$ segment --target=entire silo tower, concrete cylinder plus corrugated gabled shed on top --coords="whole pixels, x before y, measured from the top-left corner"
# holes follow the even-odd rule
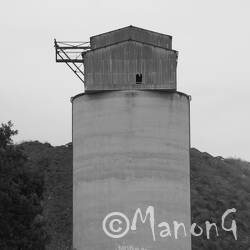
[[[171,36],[133,26],[84,48],[85,93],[72,98],[75,249],[191,249],[190,99],[176,88],[177,57]]]

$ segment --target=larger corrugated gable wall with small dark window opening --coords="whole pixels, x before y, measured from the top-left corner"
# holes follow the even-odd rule
[[[177,52],[127,41],[84,56],[86,91],[176,89]],[[142,83],[136,84],[136,74]]]

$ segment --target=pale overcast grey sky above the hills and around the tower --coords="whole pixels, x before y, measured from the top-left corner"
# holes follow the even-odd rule
[[[53,39],[88,41],[134,25],[173,36],[178,90],[192,95],[191,144],[250,160],[249,0],[14,0],[1,4],[0,121],[16,141],[71,141],[82,83],[56,64]]]

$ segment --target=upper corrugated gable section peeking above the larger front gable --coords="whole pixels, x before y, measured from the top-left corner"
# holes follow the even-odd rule
[[[172,37],[158,32],[128,26],[122,29],[113,30],[90,38],[92,49],[105,47],[114,43],[135,40],[159,46],[165,49],[172,49]]]

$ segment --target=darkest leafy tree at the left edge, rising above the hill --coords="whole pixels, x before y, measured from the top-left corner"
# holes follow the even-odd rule
[[[42,214],[43,176],[28,167],[13,144],[8,122],[0,128],[0,249],[43,250],[47,234]]]

